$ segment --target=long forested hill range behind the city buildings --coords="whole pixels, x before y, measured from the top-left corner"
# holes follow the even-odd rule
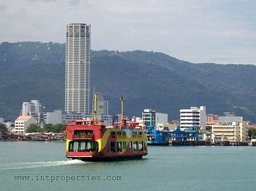
[[[163,53],[93,51],[92,87],[109,101],[109,113],[141,116],[151,108],[179,118],[179,109],[205,105],[207,113],[236,112],[256,122],[256,66],[189,63]],[[22,102],[38,99],[64,110],[65,44],[0,44],[0,116],[15,120]],[[57,99],[56,99],[57,98]]]

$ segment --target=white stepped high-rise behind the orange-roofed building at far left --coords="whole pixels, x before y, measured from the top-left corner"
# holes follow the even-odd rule
[[[39,100],[23,102],[21,114],[34,117],[38,123],[44,122],[43,107]]]

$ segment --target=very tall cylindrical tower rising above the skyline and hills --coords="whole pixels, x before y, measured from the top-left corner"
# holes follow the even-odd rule
[[[65,112],[90,113],[90,24],[67,25]]]

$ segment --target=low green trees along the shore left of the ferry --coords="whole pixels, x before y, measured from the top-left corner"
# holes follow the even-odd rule
[[[43,128],[36,124],[30,124],[27,128],[27,133],[43,133],[53,132],[60,133],[66,129],[66,124],[44,124]]]

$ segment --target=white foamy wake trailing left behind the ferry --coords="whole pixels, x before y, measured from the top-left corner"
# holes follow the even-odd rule
[[[27,162],[27,163],[6,163],[0,164],[0,171],[10,169],[23,169],[23,168],[42,168],[42,167],[55,167],[59,165],[72,165],[72,164],[85,164],[81,160],[60,160],[53,162]]]

